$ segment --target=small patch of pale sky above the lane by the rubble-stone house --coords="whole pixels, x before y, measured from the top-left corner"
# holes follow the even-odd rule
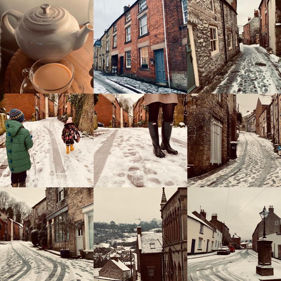
[[[248,17],[254,17],[254,9],[259,9],[261,0],[237,0],[237,24],[245,25]]]

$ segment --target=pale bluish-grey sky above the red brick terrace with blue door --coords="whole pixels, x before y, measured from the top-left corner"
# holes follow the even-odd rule
[[[94,3],[94,39],[100,38],[123,12],[124,6],[132,5],[136,0],[99,0]],[[105,4],[105,6],[104,6]],[[105,8],[104,8],[105,7]]]

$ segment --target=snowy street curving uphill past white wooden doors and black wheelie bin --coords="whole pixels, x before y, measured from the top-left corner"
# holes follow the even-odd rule
[[[237,159],[202,177],[188,180],[192,187],[280,186],[281,157],[272,143],[254,133],[240,132]]]

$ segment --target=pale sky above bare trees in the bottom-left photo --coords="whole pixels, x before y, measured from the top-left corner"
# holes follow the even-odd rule
[[[9,189],[2,187],[0,190],[7,191],[9,195],[14,197],[17,201],[25,201],[30,208],[46,196],[45,188],[38,187],[13,187]]]

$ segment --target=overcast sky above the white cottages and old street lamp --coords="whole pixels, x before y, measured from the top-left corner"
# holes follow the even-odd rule
[[[227,196],[229,199],[225,217]],[[212,213],[218,214],[218,220],[225,221],[230,234],[234,232],[241,239],[252,239],[252,234],[261,221],[259,213],[264,205],[268,210],[269,205],[273,205],[274,213],[281,217],[280,196],[281,188],[188,188],[187,206],[190,212],[200,212],[204,209],[207,212],[207,219],[211,220]],[[260,192],[262,193],[258,195]],[[254,199],[255,196],[258,197]],[[254,199],[254,200],[253,200]],[[242,210],[251,200],[253,200],[244,210]],[[237,216],[235,216],[242,210]],[[235,216],[235,217],[234,217]]]

